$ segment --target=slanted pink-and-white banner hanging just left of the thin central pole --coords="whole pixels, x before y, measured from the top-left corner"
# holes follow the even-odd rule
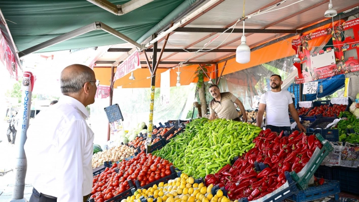
[[[117,66],[114,80],[122,78],[126,74],[138,68],[141,68],[141,64],[139,62],[139,53],[135,51],[125,61]]]

